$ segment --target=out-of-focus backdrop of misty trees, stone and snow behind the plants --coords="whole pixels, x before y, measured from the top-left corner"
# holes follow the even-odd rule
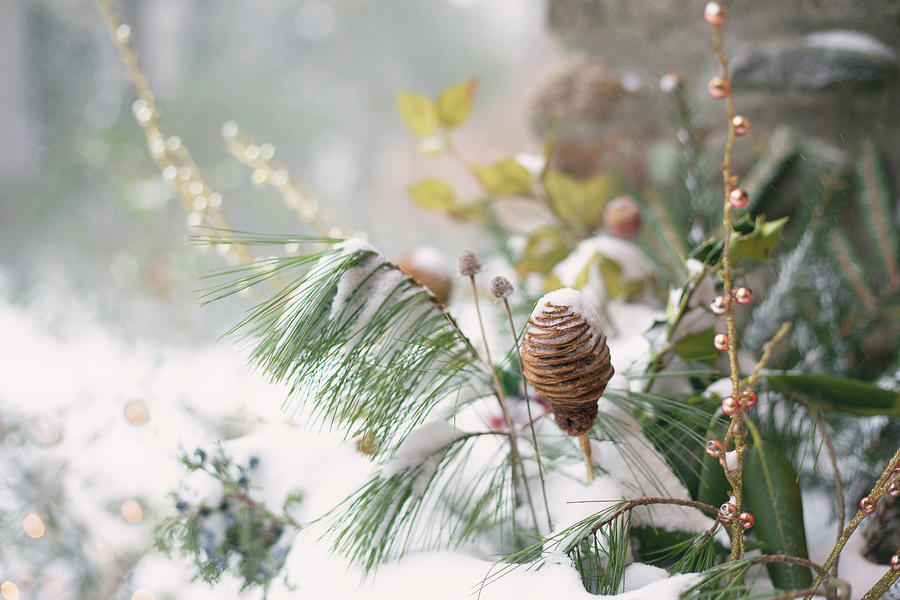
[[[434,97],[477,78],[471,119],[455,137],[467,160],[540,158],[552,132],[555,168],[578,178],[614,170],[640,189],[670,174],[659,165],[676,140],[665,102],[675,84],[691,98],[704,145],[721,155],[722,107],[705,91],[717,66],[702,5],[114,4],[131,26],[161,125],[190,148],[236,228],[310,233],[228,153],[228,121],[271,143],[304,189],[388,257],[433,245],[447,269],[460,250],[488,250],[492,240],[421,210],[407,188],[427,176],[461,194],[478,186],[464,167],[422,152],[396,92]],[[797,176],[787,181],[848,168],[869,137],[897,189],[900,3],[736,0],[730,8],[735,90],[754,125],[738,171],[787,124],[806,149],[794,149],[785,168]],[[117,590],[147,600],[154,596],[134,596],[129,582],[135,565],[146,566],[146,515],[182,476],[178,444],[278,419],[281,391],[248,379],[238,350],[214,345],[247,301],[200,307],[198,276],[224,262],[187,243],[190,217],[150,157],[132,115],[134,89],[93,3],[0,0],[0,74],[0,464],[14,465],[4,466],[0,490],[0,522],[14,540],[0,549],[0,580],[34,590],[22,598]],[[783,184],[768,215],[788,214],[803,185]],[[102,527],[117,533],[100,535]],[[145,581],[165,572],[146,569]],[[4,599],[16,600],[10,589]]]

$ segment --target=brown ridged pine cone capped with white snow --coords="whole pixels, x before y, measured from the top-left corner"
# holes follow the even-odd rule
[[[570,288],[541,298],[525,330],[522,362],[560,429],[572,436],[589,431],[614,370],[600,317],[587,298]]]

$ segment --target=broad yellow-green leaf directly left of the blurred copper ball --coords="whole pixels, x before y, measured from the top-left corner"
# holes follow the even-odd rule
[[[612,175],[578,181],[565,173],[549,171],[543,182],[559,218],[586,230],[600,222],[607,200],[617,189]]]

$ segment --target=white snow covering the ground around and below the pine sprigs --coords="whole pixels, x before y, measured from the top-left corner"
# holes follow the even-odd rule
[[[562,292],[555,298],[571,304],[572,294]],[[585,312],[588,309],[593,311],[589,304],[583,307]],[[21,414],[35,431],[60,429],[60,440],[40,452],[67,462],[68,468],[62,475],[69,498],[66,508],[74,517],[92,525],[96,539],[86,539],[85,543],[97,549],[98,554],[117,557],[144,552],[149,546],[152,524],[172,511],[168,492],[177,489],[184,477],[178,462],[179,445],[188,450],[196,446],[210,450],[216,440],[222,439],[226,440],[226,453],[236,461],[246,463],[251,456],[259,458],[259,467],[250,473],[251,495],[277,510],[290,491],[299,490],[303,501],[292,516],[302,522],[333,508],[371,474],[373,465],[357,452],[354,441],[287,422],[280,408],[286,390],[266,384],[247,367],[246,356],[233,346],[219,343],[208,348],[180,349],[126,344],[94,322],[70,318],[75,323],[69,323],[60,333],[29,310],[0,303],[0,330],[6,339],[14,340],[0,346],[0,364],[4,365],[0,410],[3,414]],[[640,359],[645,345],[625,350],[632,345],[629,340],[639,337],[639,333],[634,331],[610,341],[623,348],[618,360]],[[124,417],[125,403],[135,399],[141,400],[149,412],[143,425],[133,425]],[[471,417],[460,415],[455,426],[434,422],[419,427],[399,449],[394,466],[412,464],[446,445],[459,435],[458,428],[467,418],[479,425],[479,419],[499,413],[495,405],[493,398],[473,404]],[[533,408],[540,410],[537,405]],[[513,411],[517,422],[527,418],[523,411],[523,405],[518,403]],[[619,420],[628,436],[624,444],[594,442],[594,456],[604,473],[591,487],[582,483],[580,461],[550,474],[550,509],[560,528],[596,513],[604,504],[651,490],[686,497],[686,491],[643,438],[637,423],[611,403],[602,401],[601,411]],[[542,431],[555,433],[555,426],[548,419],[539,421],[537,428],[539,435]],[[478,447],[476,452],[487,457],[502,443],[502,437],[484,436],[477,442],[483,449]],[[533,470],[530,445],[522,443],[520,448],[526,466]],[[638,454],[648,468],[633,472],[623,461],[623,452]],[[474,456],[477,459],[478,454]],[[193,499],[213,500],[221,493],[214,482],[202,476],[184,483],[195,488]],[[537,487],[532,491],[535,497],[540,496]],[[118,514],[127,498],[141,502],[142,522],[128,524]],[[10,506],[13,501],[8,493],[0,493],[3,506]],[[524,513],[521,517],[527,520]],[[686,523],[691,531],[708,528],[708,522],[701,518],[695,511],[678,507],[634,512],[635,523],[652,520],[657,525],[677,525],[679,529],[684,529]],[[473,554],[472,548],[466,548],[410,555],[365,579],[361,571],[348,568],[343,557],[328,552],[326,542],[319,540],[324,533],[322,527],[310,524],[294,538],[286,563],[290,587],[279,580],[270,591],[270,598],[402,600],[421,597],[424,584],[430,598],[466,598],[493,566],[483,557],[494,549]],[[19,576],[22,569],[27,570],[27,564],[13,565],[11,569],[12,576]],[[122,595],[130,597],[134,589],[146,588],[157,598],[260,597],[258,592],[240,595],[238,583],[231,577],[210,587],[192,582],[191,574],[186,564],[150,552],[131,573]],[[626,572],[623,593],[615,597],[674,599],[696,580],[692,575],[656,580],[660,575],[652,567],[632,565]],[[540,570],[518,568],[485,586],[481,597],[538,599],[551,595],[597,598],[584,590],[577,572],[564,557],[549,561]]]

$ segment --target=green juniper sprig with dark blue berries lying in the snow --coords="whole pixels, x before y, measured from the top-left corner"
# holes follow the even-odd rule
[[[212,455],[197,448],[183,454],[182,462],[189,472],[204,472],[214,479],[221,486],[221,499],[214,505],[206,500],[190,503],[173,494],[177,513],[157,525],[156,547],[189,559],[195,577],[207,583],[216,583],[229,572],[241,581],[242,591],[267,589],[290,550],[286,532],[298,528],[287,511],[302,501],[302,495],[289,495],[282,514],[271,512],[251,495],[250,478],[259,459],[235,464],[221,446]]]

